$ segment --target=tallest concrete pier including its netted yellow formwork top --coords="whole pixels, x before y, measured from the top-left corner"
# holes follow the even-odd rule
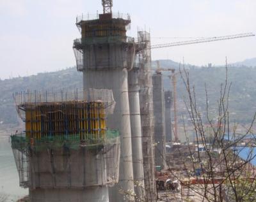
[[[115,202],[134,200],[129,197],[134,192],[134,180],[127,80],[136,49],[134,38],[126,35],[130,23],[129,15],[120,18],[112,13],[100,14],[93,20],[77,18],[81,39],[74,41],[77,70],[83,72],[84,90],[110,89],[116,102],[107,120],[109,128],[120,130],[119,182],[109,191],[109,201]]]

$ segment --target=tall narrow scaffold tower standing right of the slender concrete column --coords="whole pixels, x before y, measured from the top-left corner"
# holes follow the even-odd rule
[[[140,111],[143,135],[143,167],[147,201],[156,201],[154,161],[154,111],[151,75],[150,33],[138,32]]]

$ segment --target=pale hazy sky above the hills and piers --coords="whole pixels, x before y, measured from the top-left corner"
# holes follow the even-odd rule
[[[256,32],[255,0],[113,0],[130,13],[130,36],[150,30],[152,44]],[[75,65],[76,16],[102,11],[100,0],[0,0],[0,78],[56,71]],[[164,38],[164,39],[157,39]],[[204,65],[256,57],[256,37],[163,48],[152,59]]]

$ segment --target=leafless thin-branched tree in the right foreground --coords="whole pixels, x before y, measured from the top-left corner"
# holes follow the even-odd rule
[[[228,83],[228,68],[226,62],[225,82],[220,87],[220,97],[216,104],[217,120],[209,113],[209,96],[205,85],[206,120],[199,110],[195,86],[189,80],[189,71],[180,69],[180,76],[186,87],[188,97],[185,106],[195,133],[195,140],[189,145],[188,129],[184,122],[184,134],[187,140],[188,152],[184,155],[184,147],[179,147],[179,159],[183,162],[183,174],[174,173],[182,187],[193,192],[193,197],[185,194],[182,189],[182,201],[252,201],[256,195],[254,167],[250,163],[255,157],[253,148],[248,150],[246,159],[241,159],[239,153],[243,149],[237,147],[252,131],[255,115],[250,127],[244,134],[236,137],[236,126],[230,129],[228,117],[228,100],[232,83]],[[230,136],[230,138],[227,138]],[[244,147],[249,147],[248,141]],[[202,150],[202,151],[201,151]],[[170,161],[167,161],[169,164]],[[255,199],[254,199],[255,200]]]

